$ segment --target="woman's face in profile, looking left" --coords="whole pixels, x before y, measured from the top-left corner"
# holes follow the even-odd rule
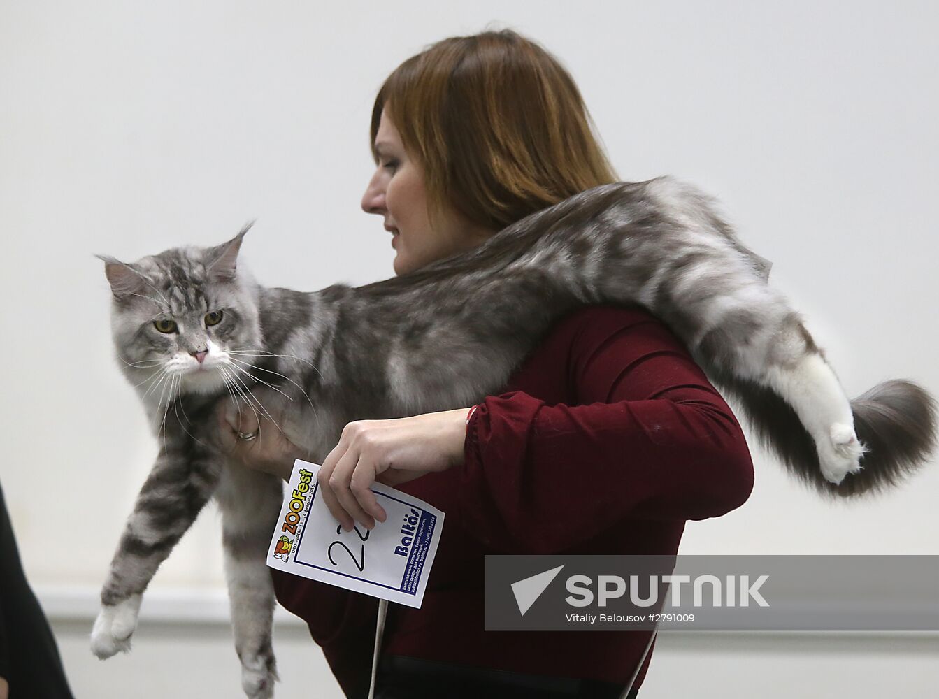
[[[427,213],[423,168],[401,143],[387,111],[381,113],[375,137],[378,167],[362,196],[362,209],[385,220],[392,234],[394,273],[401,275],[435,260],[480,245],[494,231],[470,223],[449,207],[432,229]]]

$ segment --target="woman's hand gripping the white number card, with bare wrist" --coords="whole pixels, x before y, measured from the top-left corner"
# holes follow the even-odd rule
[[[346,530],[353,520],[371,529],[387,516],[369,490],[373,482],[397,485],[463,463],[468,412],[349,422],[317,476],[332,516]]]

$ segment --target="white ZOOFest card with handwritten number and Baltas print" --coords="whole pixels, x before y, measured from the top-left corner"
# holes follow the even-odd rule
[[[270,568],[420,608],[440,542],[443,512],[381,483],[388,517],[345,531],[319,493],[319,465],[298,459],[268,550]]]

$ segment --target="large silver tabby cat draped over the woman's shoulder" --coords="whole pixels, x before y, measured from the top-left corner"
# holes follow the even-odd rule
[[[580,305],[654,313],[824,494],[884,489],[934,447],[931,396],[894,380],[849,401],[799,314],[767,285],[766,261],[737,241],[710,198],[670,177],[584,191],[474,251],[359,288],[260,287],[237,265],[244,233],[133,264],[105,258],[117,356],[161,445],[101,592],[92,632],[100,658],[130,647],[147,583],[214,495],[242,685],[250,697],[271,695],[265,555],[282,483],[225,467],[212,439],[220,399],[276,408],[285,434],[322,463],[350,421],[498,393]]]

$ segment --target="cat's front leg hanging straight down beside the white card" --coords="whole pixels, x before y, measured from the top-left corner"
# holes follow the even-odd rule
[[[266,558],[283,499],[281,479],[232,465],[218,491],[222,510],[225,579],[231,604],[241,688],[269,699],[277,677],[271,647],[274,588]]]

